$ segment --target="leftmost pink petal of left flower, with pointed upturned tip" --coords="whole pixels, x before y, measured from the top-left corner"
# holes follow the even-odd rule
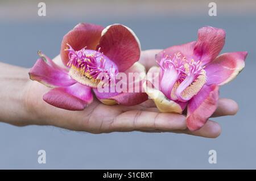
[[[51,59],[48,59],[48,61],[49,60]],[[54,64],[53,61],[51,61],[49,65],[47,62],[44,61],[43,58],[39,58],[28,73],[30,79],[43,83],[49,87],[71,86],[76,83],[75,80],[69,77],[67,70],[57,68],[57,65]],[[54,65],[55,67],[52,67],[51,65]]]

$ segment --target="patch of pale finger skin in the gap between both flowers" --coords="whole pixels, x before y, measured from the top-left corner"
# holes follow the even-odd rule
[[[142,51],[139,62],[145,66],[146,70],[149,70],[151,66],[156,65],[155,55],[158,54],[160,51],[161,49],[151,49]]]

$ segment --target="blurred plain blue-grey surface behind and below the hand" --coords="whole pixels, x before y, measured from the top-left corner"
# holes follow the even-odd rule
[[[227,32],[223,52],[247,50],[249,56],[237,79],[221,87],[221,97],[236,100],[240,111],[233,117],[214,119],[222,126],[216,139],[173,133],[95,135],[0,123],[0,169],[256,169],[255,19],[217,16],[51,22],[38,18],[34,22],[1,22],[1,60],[26,67],[34,64],[38,49],[49,57],[59,53],[62,36],[78,22],[123,23],[137,33],[142,49],[195,40],[197,29],[205,25],[221,27]],[[40,149],[47,152],[46,164],[37,162]],[[208,163],[210,149],[217,150],[217,164]]]

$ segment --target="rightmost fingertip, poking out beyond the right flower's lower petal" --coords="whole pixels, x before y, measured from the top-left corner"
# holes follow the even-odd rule
[[[217,110],[212,117],[236,115],[238,111],[238,104],[232,99],[222,98],[218,100]]]

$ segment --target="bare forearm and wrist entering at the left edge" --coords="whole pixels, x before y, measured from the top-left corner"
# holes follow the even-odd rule
[[[26,125],[26,86],[28,69],[0,62],[0,121],[14,125]]]

